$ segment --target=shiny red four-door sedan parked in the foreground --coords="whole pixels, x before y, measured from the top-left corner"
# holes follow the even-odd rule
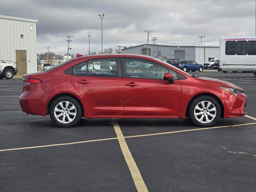
[[[149,56],[82,56],[43,72],[26,74],[20,106],[60,127],[84,118],[186,118],[212,126],[244,116],[242,88],[191,76]]]

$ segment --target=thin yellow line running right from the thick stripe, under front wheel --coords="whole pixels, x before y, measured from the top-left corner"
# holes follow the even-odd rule
[[[246,124],[239,124],[239,125],[227,125],[227,126],[208,127],[208,128],[199,128],[199,129],[187,129],[187,130],[171,131],[171,132],[163,132],[163,133],[152,133],[152,134],[145,134],[145,135],[133,135],[133,136],[125,136],[124,138],[145,137],[145,136],[163,135],[163,134],[172,134],[172,133],[198,131],[198,130],[208,130],[208,129],[217,129],[217,128],[225,128],[225,127],[236,127],[236,126],[252,125],[252,124],[256,124],[256,123],[246,123]]]

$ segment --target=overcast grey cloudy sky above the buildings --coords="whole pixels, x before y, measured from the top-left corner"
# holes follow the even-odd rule
[[[67,51],[65,35],[74,36],[72,52],[146,43],[144,30],[154,30],[157,44],[218,44],[221,36],[255,35],[256,0],[228,1],[0,1],[4,16],[38,20],[37,52]]]

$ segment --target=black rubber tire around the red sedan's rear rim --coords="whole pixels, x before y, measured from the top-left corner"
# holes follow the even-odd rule
[[[59,122],[56,119],[55,115],[54,115],[54,108],[55,108],[55,106],[57,106],[58,103],[63,102],[63,101],[71,102],[75,106],[75,108],[76,108],[76,117],[74,118],[74,120],[72,120],[69,123]],[[54,124],[56,124],[57,126],[59,126],[59,127],[72,127],[72,126],[75,126],[76,124],[78,124],[78,122],[80,121],[81,117],[82,117],[82,107],[80,106],[80,103],[76,99],[74,99],[74,98],[72,98],[70,96],[61,96],[59,98],[56,98],[52,102],[52,104],[50,106],[50,118],[51,118],[52,122]],[[66,118],[66,116],[65,116],[65,118]]]

